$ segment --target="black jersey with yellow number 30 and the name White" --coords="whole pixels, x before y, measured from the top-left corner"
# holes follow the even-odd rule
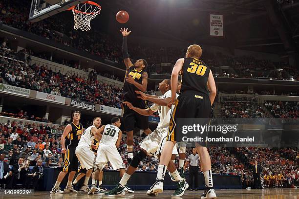
[[[195,91],[209,96],[207,88],[210,67],[201,60],[185,58],[182,68],[181,94]]]

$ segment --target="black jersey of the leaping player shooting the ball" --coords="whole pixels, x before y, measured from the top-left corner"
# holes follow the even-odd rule
[[[127,76],[131,76],[135,81],[137,81],[138,83],[141,84],[142,83],[142,75],[145,72],[146,72],[145,70],[137,71],[134,68],[134,66],[132,66],[128,69]],[[141,99],[137,98],[138,95],[135,93],[135,91],[139,91],[139,89],[136,86],[134,86],[133,84],[130,84],[125,80],[124,90],[123,90],[124,100],[129,101],[131,103],[140,101]]]

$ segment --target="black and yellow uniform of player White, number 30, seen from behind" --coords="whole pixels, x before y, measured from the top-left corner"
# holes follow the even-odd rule
[[[203,61],[195,58],[184,59],[184,64],[181,70],[181,94],[177,98],[175,107],[171,113],[167,136],[168,141],[176,141],[178,136],[177,133],[182,133],[181,131],[176,132],[178,119],[201,118],[206,119],[206,122],[209,123],[211,115],[211,101],[207,88],[209,73],[210,67]],[[206,122],[203,125],[206,125]],[[201,137],[205,138],[205,134],[207,134],[207,132],[201,134]],[[199,144],[206,145],[205,142]]]

